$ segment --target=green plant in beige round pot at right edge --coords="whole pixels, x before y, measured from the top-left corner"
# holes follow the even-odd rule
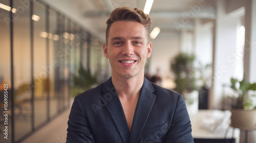
[[[256,91],[256,82],[250,83],[245,75],[241,81],[231,78],[231,89],[236,98],[231,109],[231,126],[242,130],[255,129],[256,106],[252,101],[255,95],[248,95],[248,91]]]

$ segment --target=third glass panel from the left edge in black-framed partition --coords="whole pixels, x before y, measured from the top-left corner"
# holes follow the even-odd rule
[[[35,128],[47,121],[46,7],[34,2],[34,119]]]

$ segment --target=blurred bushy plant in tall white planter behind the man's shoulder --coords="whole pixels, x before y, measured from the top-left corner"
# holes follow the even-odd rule
[[[176,92],[182,94],[189,115],[198,111],[198,91],[195,77],[195,55],[179,53],[171,61],[171,70],[175,74]]]

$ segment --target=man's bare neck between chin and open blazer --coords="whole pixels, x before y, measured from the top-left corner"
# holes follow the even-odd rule
[[[119,97],[127,99],[138,97],[144,82],[144,72],[140,72],[131,78],[123,78],[112,74],[112,82]]]

